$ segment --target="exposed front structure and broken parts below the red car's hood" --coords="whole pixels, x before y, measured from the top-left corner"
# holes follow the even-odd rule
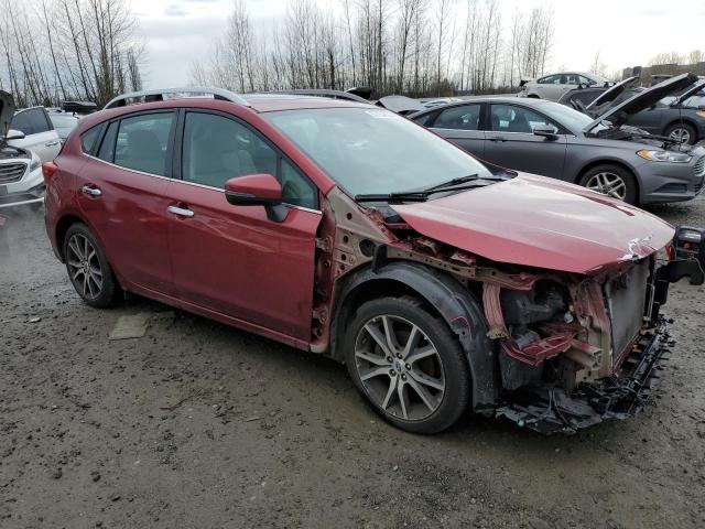
[[[326,224],[334,210],[324,212],[323,233],[337,227],[318,241],[317,284],[345,283],[365,264],[375,274],[402,261],[455,278],[484,311],[491,355],[484,375],[494,381],[481,397],[475,395],[475,411],[541,433],[574,433],[639,411],[674,343],[660,315],[668,285],[683,277],[703,282],[698,261],[665,260],[653,251],[626,255],[592,274],[488,261],[422,236],[389,206],[360,217],[343,195],[329,198],[337,223]],[[630,242],[630,249],[637,247]],[[673,248],[669,244],[666,250]],[[322,353],[328,342],[325,321],[336,311],[330,296],[319,289],[314,307]]]

